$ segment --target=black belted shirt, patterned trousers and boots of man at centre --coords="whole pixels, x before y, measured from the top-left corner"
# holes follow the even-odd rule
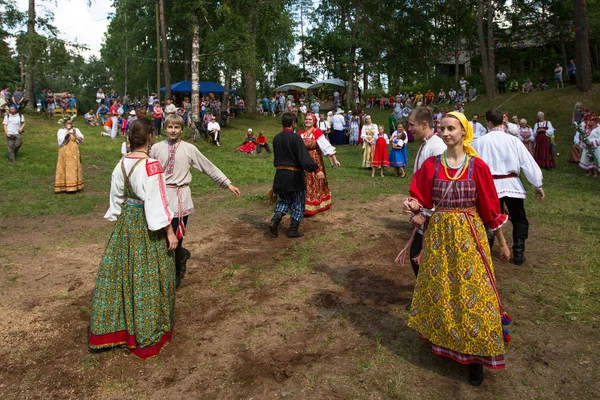
[[[310,156],[305,142],[292,128],[283,128],[273,138],[273,152],[273,165],[277,171],[273,179],[272,191],[278,196],[278,199],[269,229],[271,235],[276,237],[281,219],[291,208],[292,222],[287,236],[300,237],[302,233],[298,232],[298,228],[304,217],[306,207],[304,173],[305,171],[307,173],[318,173],[321,171],[321,167]]]

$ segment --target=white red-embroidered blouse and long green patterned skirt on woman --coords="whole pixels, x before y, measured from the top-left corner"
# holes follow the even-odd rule
[[[175,262],[163,229],[171,223],[160,163],[123,158],[112,173],[117,221],[98,268],[89,347],[126,345],[140,358],[158,354],[173,334]]]

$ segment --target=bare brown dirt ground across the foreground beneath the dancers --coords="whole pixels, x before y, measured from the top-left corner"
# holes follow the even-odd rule
[[[410,228],[405,217],[381,206],[397,204],[399,196],[336,202],[305,219],[304,238],[290,240],[266,237],[271,206],[258,196],[264,189],[233,207],[201,207],[230,201],[223,193],[197,200],[175,334],[147,361],[123,349],[87,350],[91,291],[111,230],[102,215],[5,220],[0,398],[597,395],[598,332],[544,319],[550,306],[536,270],[553,268],[549,260],[566,249],[535,232],[534,221],[528,263],[496,266],[515,320],[508,368],[472,388],[465,368],[433,356],[406,326],[414,277],[394,258]]]

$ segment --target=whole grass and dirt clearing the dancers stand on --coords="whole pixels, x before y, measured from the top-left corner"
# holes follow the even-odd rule
[[[592,398],[600,357],[600,182],[567,162],[575,102],[600,109],[600,87],[504,95],[469,103],[537,111],[557,128],[545,202],[527,200],[527,263],[497,262],[515,323],[508,368],[466,384],[406,327],[414,278],[393,263],[410,235],[400,214],[410,176],[371,178],[362,150],[340,146],[327,168],[333,208],[303,222],[298,241],[264,235],[272,155],[236,152],[247,128],[269,139],[278,118],[238,118],[220,148],[199,149],[242,190],[234,199],[194,172],[193,257],[177,298],[177,330],[155,359],[86,349],[95,271],[111,225],[102,220],[122,138],[83,126],[86,186],[54,194],[56,120],[27,116],[18,162],[0,163],[0,397],[17,398]],[[387,127],[388,112],[373,110]],[[187,133],[186,133],[187,134]],[[414,160],[417,143],[409,145]],[[530,185],[526,185],[530,188]],[[531,192],[530,192],[531,193]],[[505,232],[509,233],[510,229]]]

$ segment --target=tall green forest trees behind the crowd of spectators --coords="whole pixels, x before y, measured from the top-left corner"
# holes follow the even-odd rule
[[[557,62],[566,72],[576,58],[580,90],[600,81],[598,0],[112,4],[100,55],[86,59],[84,45],[58,39],[53,18],[60,10],[52,1],[29,0],[29,12],[20,12],[11,0],[0,0],[1,83],[23,85],[29,97],[43,87],[68,89],[87,110],[98,88],[132,97],[156,92],[157,69],[160,86],[192,80],[197,72],[197,80],[236,88],[248,104],[282,83],[329,77],[347,81],[349,92],[360,87],[363,97],[448,90],[458,73],[436,76],[435,65],[455,62],[458,71],[463,57],[472,63],[468,80],[488,96],[495,95],[498,68],[509,79],[551,81]],[[43,11],[36,14],[36,5]]]

